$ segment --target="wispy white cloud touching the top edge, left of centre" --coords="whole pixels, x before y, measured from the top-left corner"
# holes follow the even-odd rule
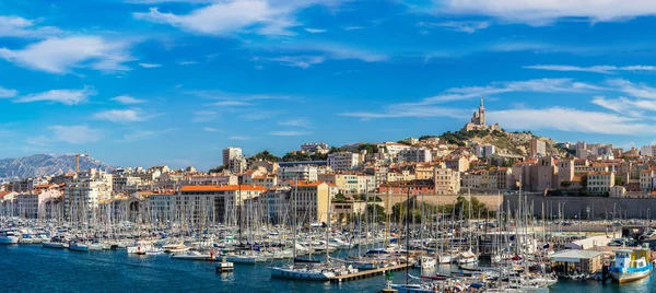
[[[151,8],[149,12],[132,15],[204,35],[225,36],[248,30],[261,35],[293,35],[288,31],[298,25],[292,15],[296,9],[293,3],[272,5],[266,0],[226,0],[195,9],[188,14],[162,13],[157,8]]]

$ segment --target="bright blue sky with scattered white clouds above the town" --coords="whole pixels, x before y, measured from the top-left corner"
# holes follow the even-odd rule
[[[207,169],[489,122],[654,142],[656,2],[0,2],[0,156]]]

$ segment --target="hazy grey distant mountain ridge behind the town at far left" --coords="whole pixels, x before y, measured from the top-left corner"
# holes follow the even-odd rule
[[[80,157],[80,169],[102,168],[114,171],[116,167],[91,156]],[[60,175],[75,171],[74,154],[35,154],[23,157],[1,159],[0,179],[17,180],[28,177]]]

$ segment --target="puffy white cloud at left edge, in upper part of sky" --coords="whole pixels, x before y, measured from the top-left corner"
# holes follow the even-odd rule
[[[0,57],[25,68],[66,74],[73,68],[101,71],[129,70],[124,63],[133,60],[127,52],[128,43],[98,36],[48,38],[23,49],[0,48]]]

